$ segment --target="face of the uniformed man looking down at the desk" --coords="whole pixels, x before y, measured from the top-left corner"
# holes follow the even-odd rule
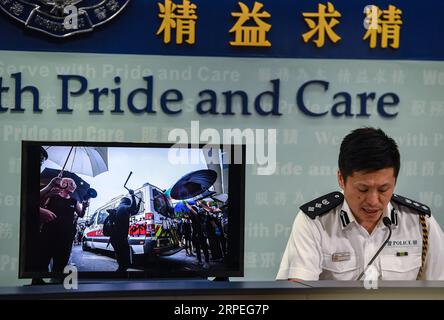
[[[395,189],[396,178],[393,168],[374,172],[355,171],[344,181],[338,171],[339,186],[344,197],[361,225],[374,225],[381,218]]]

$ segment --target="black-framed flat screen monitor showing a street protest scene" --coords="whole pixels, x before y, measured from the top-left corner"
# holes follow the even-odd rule
[[[244,147],[23,141],[19,277],[243,276]]]

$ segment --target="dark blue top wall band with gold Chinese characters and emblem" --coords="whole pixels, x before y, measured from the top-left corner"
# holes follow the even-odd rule
[[[43,3],[51,2],[0,1],[0,49],[327,59],[444,58],[442,1],[89,0],[64,1],[65,6],[54,7]],[[68,7],[70,3],[75,5]]]

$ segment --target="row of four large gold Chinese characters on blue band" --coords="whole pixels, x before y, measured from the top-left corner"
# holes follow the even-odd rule
[[[251,8],[240,1],[237,4],[240,11],[230,13],[236,21],[231,28],[227,28],[232,37],[228,44],[234,47],[271,47],[272,43],[267,36],[272,29],[272,12],[267,11],[264,4],[258,1]],[[197,4],[190,0],[182,0],[181,3],[164,0],[163,3],[158,2],[158,8],[157,16],[161,23],[156,35],[161,36],[165,44],[196,43],[196,28],[199,23]],[[375,5],[365,7],[362,40],[368,42],[371,49],[398,49],[403,24],[401,15],[402,11],[394,5],[388,5],[386,9]],[[303,43],[312,42],[317,48],[322,48],[327,42],[338,44],[342,40],[338,26],[343,16],[331,2],[319,3],[317,11],[302,12],[301,17],[308,28],[302,31]]]

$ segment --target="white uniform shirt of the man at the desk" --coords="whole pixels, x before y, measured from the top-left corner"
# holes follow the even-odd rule
[[[395,215],[391,217],[393,208]],[[391,218],[393,224],[390,241],[372,264],[378,278],[416,280],[422,251],[418,213],[390,202],[383,216]],[[429,248],[422,279],[444,280],[444,234],[433,217],[426,217],[426,221]],[[355,220],[345,199],[314,220],[300,211],[276,279],[357,280],[388,234],[382,219],[369,234]]]

